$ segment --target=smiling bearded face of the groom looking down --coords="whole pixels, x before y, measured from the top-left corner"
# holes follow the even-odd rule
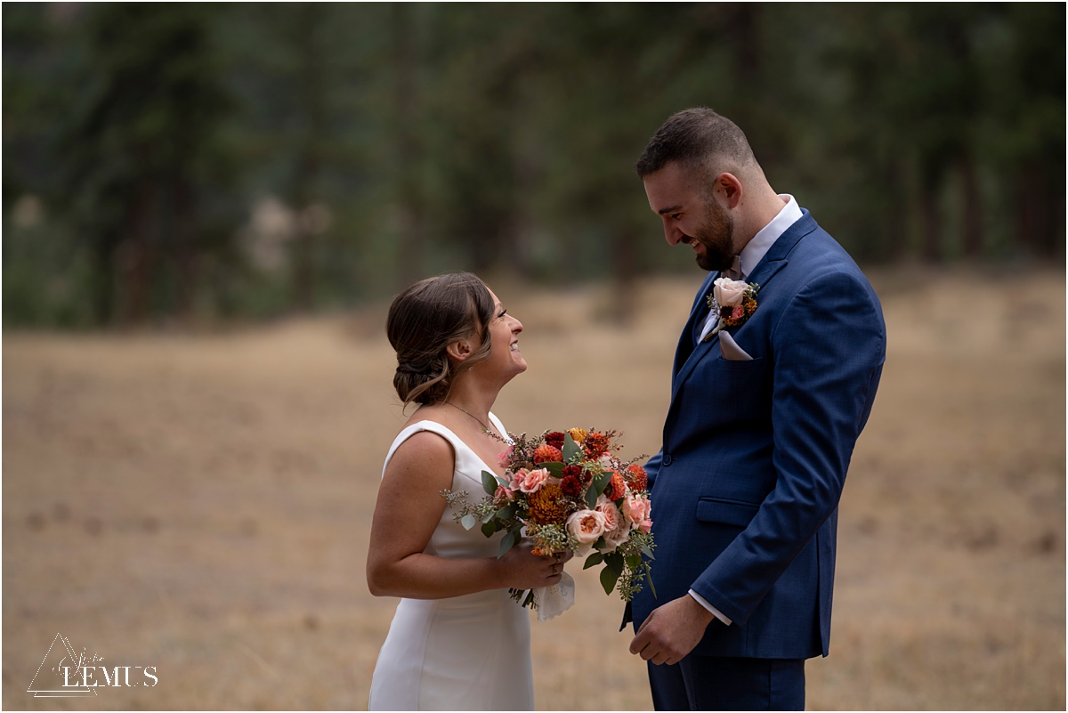
[[[644,178],[653,212],[664,224],[668,244],[693,248],[704,270],[725,270],[734,262],[734,221],[701,185],[700,174],[677,162],[668,163]]]

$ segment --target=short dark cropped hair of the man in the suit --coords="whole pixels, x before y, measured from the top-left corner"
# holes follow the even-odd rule
[[[756,163],[756,157],[737,124],[707,107],[695,107],[673,114],[657,129],[634,171],[645,178],[672,161],[691,171],[719,173],[744,169]]]

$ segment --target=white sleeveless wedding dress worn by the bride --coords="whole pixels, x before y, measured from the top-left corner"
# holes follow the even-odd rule
[[[490,421],[507,433],[492,413]],[[405,428],[386,456],[413,433],[433,431],[447,439],[456,454],[452,490],[466,490],[472,502],[483,495],[482,471],[490,471],[455,433],[433,421]],[[382,473],[386,473],[386,465]],[[504,533],[487,538],[478,527],[464,529],[445,508],[424,552],[437,557],[496,557]],[[529,612],[491,589],[449,599],[402,599],[378,654],[371,682],[372,711],[531,711]]]

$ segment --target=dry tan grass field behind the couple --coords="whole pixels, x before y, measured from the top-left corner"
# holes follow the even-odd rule
[[[494,411],[655,451],[698,279],[642,283],[630,329],[596,319],[600,288],[490,281],[530,363]],[[1065,708],[1065,274],[1000,280],[873,274],[889,353],[810,709]],[[367,592],[367,534],[405,419],[382,320],[4,334],[5,709],[366,707],[396,604]],[[534,624],[538,708],[648,709],[593,571],[575,572],[575,608]],[[57,632],[156,666],[158,685],[34,698]]]

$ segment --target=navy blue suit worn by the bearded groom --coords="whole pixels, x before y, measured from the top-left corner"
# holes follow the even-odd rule
[[[637,629],[692,588],[733,623],[713,621],[680,664],[649,665],[661,709],[774,707],[765,688],[783,660],[800,665],[803,703],[803,660],[828,653],[838,498],[885,356],[875,291],[807,211],[745,278],[758,306],[729,331],[751,361],[723,359],[718,336],[697,342],[718,276],[679,338],[663,447],[645,466],[658,596],[645,587],[632,616]],[[740,674],[740,660],[763,668]],[[700,679],[708,697],[691,690]],[[731,698],[731,685],[743,690]]]

